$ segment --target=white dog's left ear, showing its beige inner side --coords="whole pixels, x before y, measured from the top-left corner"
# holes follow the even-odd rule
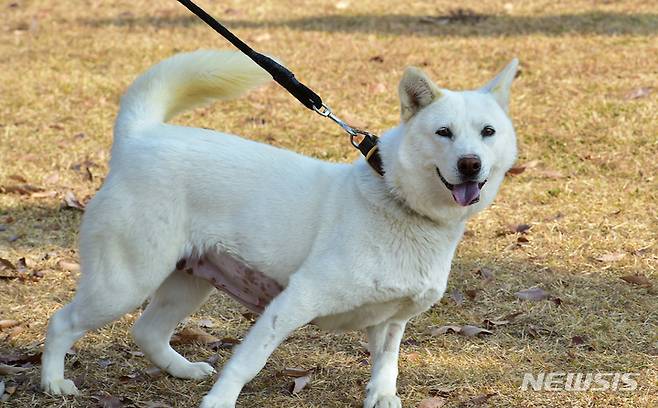
[[[404,70],[400,85],[400,115],[402,121],[408,121],[420,109],[429,105],[440,94],[439,88],[419,68],[407,67]]]

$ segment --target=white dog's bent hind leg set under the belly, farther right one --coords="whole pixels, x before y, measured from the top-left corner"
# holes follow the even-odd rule
[[[204,279],[175,271],[158,288],[135,323],[135,342],[153,364],[174,377],[200,379],[214,372],[210,364],[192,363],[169,345],[178,322],[201,306],[213,289]]]

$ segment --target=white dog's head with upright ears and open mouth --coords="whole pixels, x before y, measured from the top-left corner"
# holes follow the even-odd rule
[[[414,210],[444,218],[451,208],[468,215],[493,201],[516,159],[508,102],[517,66],[514,59],[484,87],[461,92],[406,69],[402,123],[385,135],[382,158],[387,184]]]

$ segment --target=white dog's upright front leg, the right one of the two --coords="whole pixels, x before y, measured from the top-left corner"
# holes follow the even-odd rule
[[[387,321],[368,327],[372,377],[366,387],[364,408],[401,408],[396,394],[398,355],[406,321]]]

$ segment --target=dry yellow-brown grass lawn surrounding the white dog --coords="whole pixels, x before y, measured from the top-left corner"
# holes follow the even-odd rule
[[[452,390],[446,393],[450,406],[488,392],[497,393],[488,402],[497,407],[658,406],[656,295],[619,279],[637,273],[655,285],[657,277],[655,4],[532,0],[510,7],[500,0],[486,5],[468,0],[460,7],[488,17],[441,24],[422,17],[447,15],[452,2],[367,0],[347,8],[310,0],[294,7],[281,0],[221,3],[202,4],[257,48],[280,56],[343,116],[375,131],[397,120],[394,90],[408,64],[424,66],[442,85],[465,88],[483,83],[512,56],[522,61],[512,100],[520,162],[541,165],[510,177],[496,204],[469,224],[449,292],[481,288],[475,299],[458,306],[446,296],[408,328],[406,338],[413,341],[402,347],[399,381],[405,406],[441,389]],[[25,257],[29,271],[43,274],[35,281],[0,281],[0,320],[22,322],[19,329],[0,332],[5,355],[38,349],[48,317],[72,296],[76,273],[58,262],[76,258],[80,214],[60,209],[62,194],[71,190],[85,197],[100,186],[121,92],[140,71],[177,51],[226,45],[174,1],[6,0],[0,10],[0,185],[15,185],[11,175],[20,175],[58,192],[54,198],[0,194],[0,225],[6,229],[0,232],[0,257],[14,263]],[[627,98],[640,87],[653,92]],[[327,160],[356,157],[337,128],[275,86],[179,121]],[[93,181],[71,170],[85,160],[93,163]],[[547,177],[545,170],[563,177]],[[514,223],[532,225],[522,247],[515,244],[517,235],[498,234]],[[608,253],[625,256],[595,260]],[[474,273],[484,266],[494,271],[493,283]],[[562,304],[514,297],[534,285]],[[431,325],[481,324],[513,311],[523,315],[485,338],[427,332]],[[208,331],[240,337],[250,324],[240,312],[217,295],[191,321],[211,319],[215,326]],[[127,405],[129,399],[135,406],[144,401],[197,406],[210,380],[119,380],[148,367],[126,353],[135,349],[129,336],[134,319],[127,316],[77,344],[67,373],[86,375],[82,397],[37,392],[35,367],[23,377],[4,378],[18,383],[5,406],[87,407],[96,404],[92,396],[106,393],[126,398]],[[530,325],[550,333],[533,337]],[[576,335],[592,348],[572,346]],[[362,339],[360,333],[299,330],[247,386],[239,405],[360,406],[369,371]],[[180,349],[196,360],[213,354],[198,345]],[[229,355],[220,351],[217,364]],[[101,358],[113,365],[101,368]],[[289,379],[277,375],[290,366],[318,367],[311,388],[298,396],[290,396]],[[521,392],[527,371],[637,372],[639,388]]]

